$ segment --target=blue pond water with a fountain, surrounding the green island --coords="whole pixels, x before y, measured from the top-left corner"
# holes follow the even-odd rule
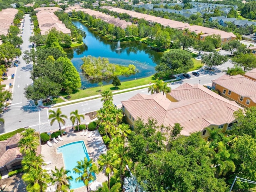
[[[96,87],[98,82],[92,83],[84,76],[81,65],[83,64],[81,58],[84,56],[105,57],[110,63],[128,66],[133,64],[138,73],[130,76],[118,76],[123,81],[134,80],[135,78],[148,77],[155,74],[155,66],[160,61],[162,53],[152,50],[146,44],[141,42],[110,42],[102,38],[97,32],[84,26],[82,22],[73,20],[73,24],[86,32],[84,38],[84,45],[76,48],[66,49],[68,57],[78,70],[81,76],[82,86]],[[112,80],[104,81],[103,84],[111,84]]]

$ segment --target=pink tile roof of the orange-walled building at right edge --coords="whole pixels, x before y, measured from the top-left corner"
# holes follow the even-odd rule
[[[231,90],[240,96],[249,97],[253,102],[256,102],[256,81],[254,80],[242,75],[223,75],[216,80],[212,80],[212,82]]]

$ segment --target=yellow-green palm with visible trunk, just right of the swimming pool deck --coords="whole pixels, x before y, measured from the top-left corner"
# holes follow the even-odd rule
[[[104,168],[105,175],[108,177],[108,190],[110,190],[110,174],[112,172],[117,172],[116,166],[120,164],[118,156],[111,153],[109,150],[106,154],[101,154],[98,158],[99,170],[102,171]]]

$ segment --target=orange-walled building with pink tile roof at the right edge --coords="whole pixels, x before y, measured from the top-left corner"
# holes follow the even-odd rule
[[[244,108],[256,106],[256,81],[242,75],[223,75],[212,80],[212,88]]]

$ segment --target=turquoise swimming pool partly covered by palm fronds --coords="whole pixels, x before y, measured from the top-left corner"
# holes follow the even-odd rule
[[[87,159],[90,159],[84,141],[76,141],[58,147],[57,152],[62,153],[65,169],[70,170],[67,175],[71,175],[73,177],[73,180],[70,182],[70,188],[76,189],[83,187],[83,182],[76,182],[76,178],[79,177],[79,174],[74,173],[73,168],[75,168],[75,166],[77,165],[76,162],[84,160],[85,156],[87,157]]]

